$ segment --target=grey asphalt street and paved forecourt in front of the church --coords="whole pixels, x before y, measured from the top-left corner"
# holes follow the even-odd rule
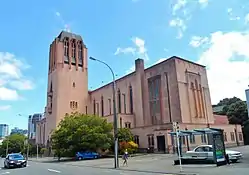
[[[242,146],[232,148],[243,153],[243,159],[239,163],[216,167],[214,165],[183,165],[183,172],[181,174],[196,174],[196,175],[248,175],[249,164],[249,146]],[[28,162],[28,167],[19,169],[1,169],[0,175],[50,175],[50,174],[63,174],[63,175],[152,175],[152,174],[179,174],[180,167],[172,165],[175,155],[169,154],[151,154],[138,157],[131,157],[128,161],[128,166],[122,165],[120,159],[120,169],[113,169],[113,159],[97,159],[97,160],[84,160],[84,161],[65,161],[65,162],[51,162],[53,158],[33,159]],[[48,159],[48,158],[47,158]]]

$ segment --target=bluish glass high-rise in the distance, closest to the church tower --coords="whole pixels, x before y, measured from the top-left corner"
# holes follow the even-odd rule
[[[28,121],[28,138],[36,138],[36,125],[42,119],[42,114],[33,114],[29,116]]]

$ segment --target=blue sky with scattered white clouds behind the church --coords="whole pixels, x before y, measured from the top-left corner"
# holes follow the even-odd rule
[[[0,2],[0,123],[27,128],[46,103],[48,48],[61,30],[80,34],[88,56],[117,78],[172,55],[205,64],[213,103],[245,99],[249,84],[246,0],[43,0]],[[99,76],[99,72],[102,72]],[[89,61],[89,89],[110,81]],[[20,115],[19,115],[20,114]]]

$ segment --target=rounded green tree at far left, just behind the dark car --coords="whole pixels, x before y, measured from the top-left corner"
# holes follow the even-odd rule
[[[22,134],[12,134],[4,139],[2,148],[6,150],[8,145],[8,153],[24,152],[26,139]]]

